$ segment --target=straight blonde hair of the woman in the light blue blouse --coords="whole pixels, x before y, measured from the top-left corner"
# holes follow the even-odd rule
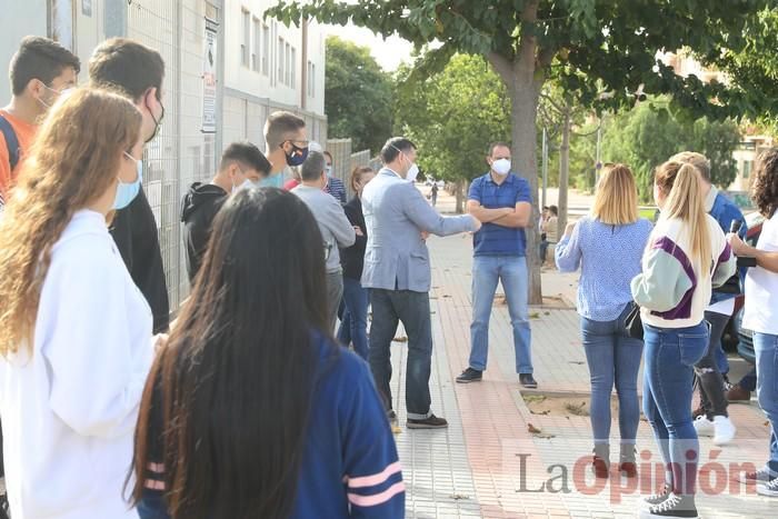
[[[609,226],[638,221],[638,188],[629,167],[606,166],[597,184],[591,216]]]

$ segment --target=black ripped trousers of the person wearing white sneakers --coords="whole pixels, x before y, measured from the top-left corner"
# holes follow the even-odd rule
[[[729,316],[705,312],[705,320],[710,323],[710,340],[705,357],[695,365],[695,375],[699,380],[700,403],[708,418],[726,417],[727,396],[724,392],[724,377],[719,371],[717,352],[721,349],[721,336],[727,328]]]

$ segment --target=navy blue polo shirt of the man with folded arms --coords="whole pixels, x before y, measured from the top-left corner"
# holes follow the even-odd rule
[[[532,202],[529,182],[508,173],[498,184],[491,173],[478,177],[470,184],[468,200],[475,200],[486,209],[515,208],[519,202]],[[475,256],[526,256],[527,238],[523,229],[483,223],[472,236]]]

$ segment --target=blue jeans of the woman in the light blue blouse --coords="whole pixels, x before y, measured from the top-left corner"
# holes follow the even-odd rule
[[[616,385],[619,397],[621,443],[635,445],[640,421],[638,370],[642,341],[629,337],[625,319],[631,306],[612,321],[592,321],[581,317],[581,338],[591,381],[591,430],[595,443],[610,438],[610,393]]]

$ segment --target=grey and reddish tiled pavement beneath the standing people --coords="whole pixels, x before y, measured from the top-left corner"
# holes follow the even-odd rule
[[[405,428],[405,343],[395,343],[392,390],[402,428],[396,438],[408,488],[407,516],[636,517],[640,495],[652,491],[651,463],[659,459],[648,425],[641,422],[638,433],[641,470],[647,471],[639,479],[640,488],[629,488],[630,481],[626,479],[596,487],[584,465],[591,451],[589,419],[530,413],[518,390],[512,333],[507,308],[501,305],[496,305],[492,313],[490,358],[483,381],[455,383],[453,378],[467,366],[469,355],[471,247],[469,239],[462,237],[430,238],[428,244],[435,287],[432,410],[446,417],[450,427],[438,431]],[[547,295],[566,292],[566,287],[572,285],[569,277],[560,278],[552,272],[545,277],[545,286],[550,290],[545,290]],[[569,295],[567,290],[565,299],[569,300]],[[535,372],[540,391],[588,392],[588,370],[575,311],[538,308],[531,312]],[[719,451],[709,439],[701,440],[702,461],[707,465],[700,481],[704,493],[698,496],[700,516],[778,518],[778,500],[770,501],[728,482],[736,472],[730,463],[764,460],[769,432],[755,405],[731,406],[730,412],[738,426],[734,445]],[[542,431],[541,436],[550,438],[529,433],[530,422]],[[617,435],[615,420],[611,437]],[[709,456],[715,461],[708,462]],[[719,468],[724,473],[717,475]],[[567,478],[560,477],[563,470]],[[557,479],[550,487],[540,490],[553,477]],[[726,490],[721,490],[721,485]]]

